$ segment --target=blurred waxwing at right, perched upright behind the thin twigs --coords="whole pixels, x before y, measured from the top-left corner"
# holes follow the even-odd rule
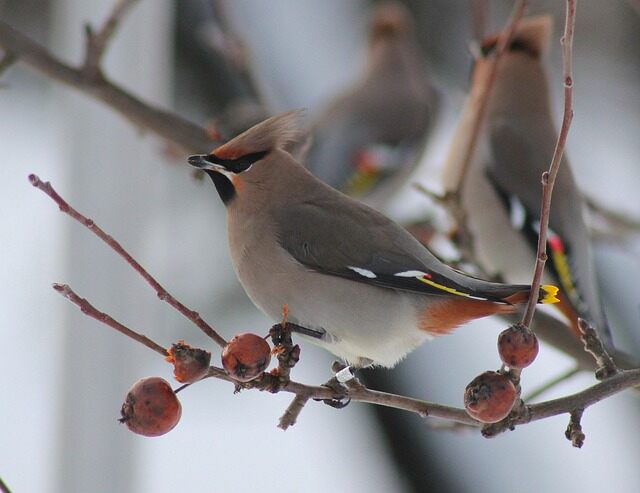
[[[462,173],[456,148],[464,146],[463,112],[443,182],[459,192],[471,234],[474,260],[483,272],[507,282],[531,278],[540,219],[541,175],[548,169],[557,140],[542,57],[547,49],[551,17],[520,23],[500,59],[488,100],[478,145]],[[497,35],[482,44],[471,92],[486,78]],[[476,86],[477,87],[477,86]],[[473,111],[472,105],[466,108]],[[461,130],[462,129],[462,130]],[[576,335],[578,317],[598,330],[612,348],[594,272],[590,238],[583,218],[583,198],[569,163],[563,159],[555,182],[545,282],[560,287],[555,305]]]

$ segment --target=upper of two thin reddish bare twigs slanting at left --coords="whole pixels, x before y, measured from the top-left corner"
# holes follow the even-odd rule
[[[187,319],[191,320],[202,332],[213,339],[220,347],[227,345],[227,341],[221,337],[207,322],[205,322],[198,312],[188,309],[178,300],[176,300],[162,285],[156,281],[151,274],[149,274],[142,265],[140,265],[136,259],[134,259],[129,252],[127,252],[120,243],[114,240],[111,236],[105,233],[93,220],[83,216],[73,207],[71,207],[51,186],[49,182],[42,182],[36,175],[29,175],[29,181],[31,184],[42,190],[47,194],[56,204],[62,212],[69,215],[80,224],[85,226],[89,231],[95,234],[103,242],[105,242],[113,251],[120,255],[133,269],[140,274],[145,281],[156,291],[158,298],[166,301],[173,308],[178,310]]]

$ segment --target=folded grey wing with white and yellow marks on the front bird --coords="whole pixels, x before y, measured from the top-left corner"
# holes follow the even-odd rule
[[[297,262],[322,274],[383,288],[504,301],[528,286],[490,283],[445,266],[402,227],[350,202],[309,200],[277,214],[278,240]]]

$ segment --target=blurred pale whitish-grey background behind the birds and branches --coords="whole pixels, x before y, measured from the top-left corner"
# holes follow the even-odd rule
[[[455,111],[470,64],[468,2],[413,3],[425,53]],[[497,28],[510,2],[490,3],[491,27]],[[531,3],[533,13],[554,13],[559,39],[564,2]],[[83,23],[99,24],[111,5],[5,0],[0,16],[75,64],[82,59]],[[368,6],[339,0],[227,3],[273,111],[316,111],[355,77]],[[640,16],[623,0],[584,1],[578,8],[569,155],[585,189],[640,217]],[[174,84],[181,75],[174,72],[177,15],[176,2],[141,0],[109,48],[105,71],[146,101],[169,108],[175,99],[178,112],[203,123],[209,110],[184,82]],[[559,109],[557,42],[548,64]],[[210,348],[214,360],[217,349],[158,301],[112,251],[33,189],[29,173],[50,180],[223,335],[264,332],[269,322],[235,280],[222,204],[210,183],[192,178],[184,156],[169,157],[162,142],[141,135],[103,104],[26,66],[11,68],[2,81],[0,477],[14,492],[390,492],[419,491],[420,482],[434,491],[640,491],[640,401],[632,393],[587,410],[582,450],[564,438],[565,416],[485,440],[435,431],[401,412],[381,418],[371,406],[355,403],[341,411],[310,403],[298,424],[283,433],[276,423],[289,395],[233,395],[230,385],[213,380],[181,394],[183,417],[168,435],[130,434],[116,421],[127,388],[147,375],[169,379],[171,368],[83,316],[51,289],[52,282],[69,283],[99,309],[161,344],[184,338]],[[407,200],[421,204],[416,197]],[[638,242],[599,250],[611,318],[636,331],[639,252]],[[468,381],[498,366],[499,330],[496,322],[475,323],[415,351],[386,378],[398,391],[460,406]],[[620,337],[639,354],[631,345],[637,334]],[[323,382],[330,361],[303,343],[294,377]],[[523,386],[570,366],[543,346]],[[581,375],[549,395],[593,381]],[[403,451],[390,445],[398,438],[406,442]]]

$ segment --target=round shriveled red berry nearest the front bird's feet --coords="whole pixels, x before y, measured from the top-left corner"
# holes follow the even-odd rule
[[[238,334],[222,350],[222,366],[239,382],[260,376],[270,362],[271,348],[256,334]]]

